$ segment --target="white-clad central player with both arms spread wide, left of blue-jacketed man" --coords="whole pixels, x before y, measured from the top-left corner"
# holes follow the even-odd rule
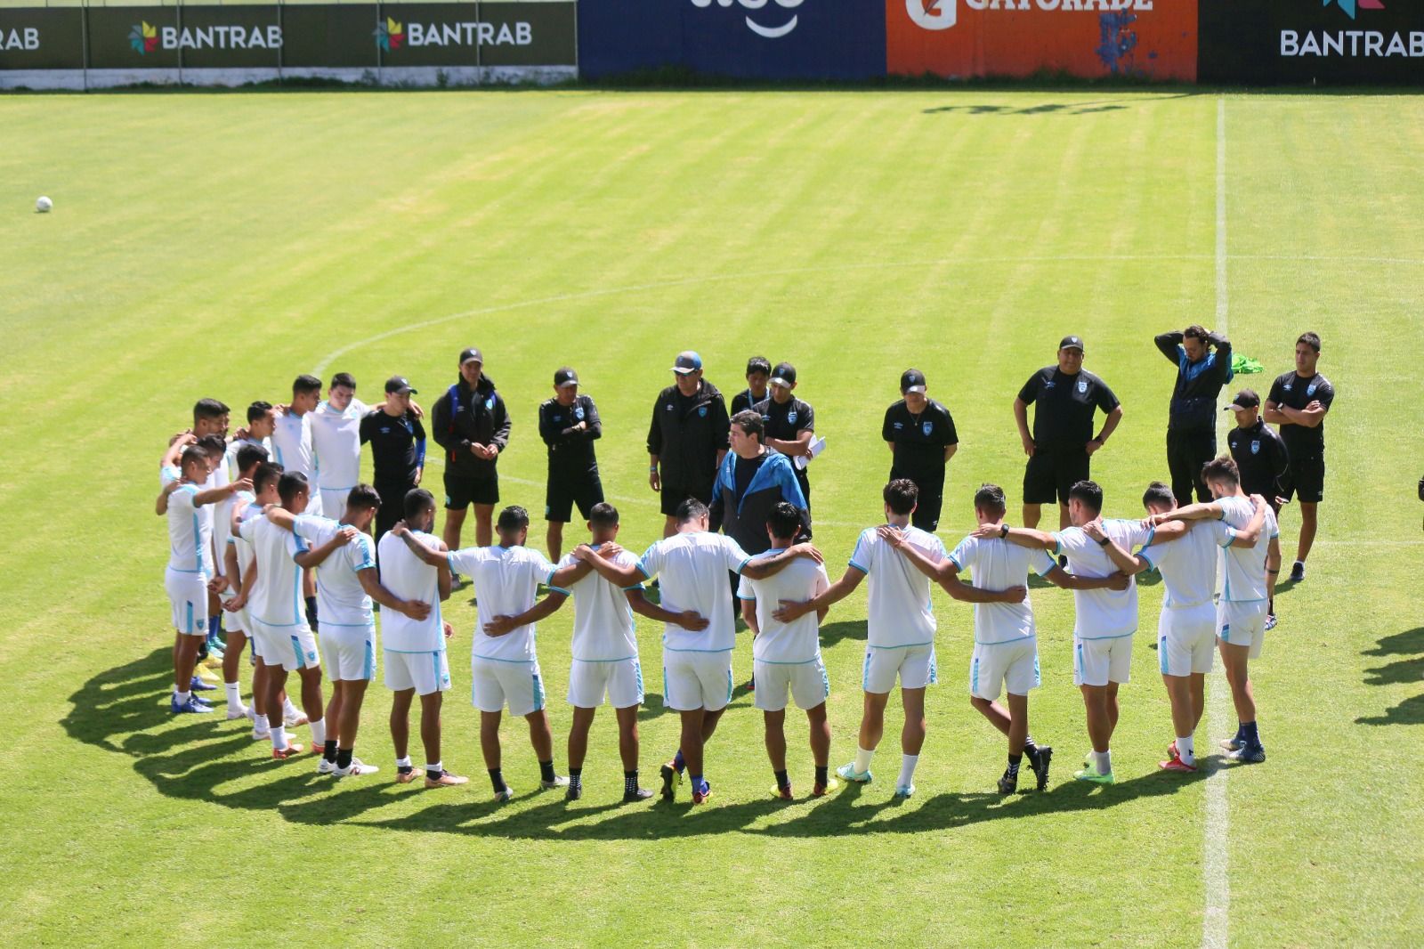
[[[692,777],[692,804],[703,804],[712,797],[703,771],[703,748],[732,701],[736,624],[726,594],[726,571],[762,580],[796,557],[820,560],[820,553],[810,544],[796,544],[753,563],[735,540],[708,531],[711,516],[698,499],[688,497],[678,504],[675,517],[678,533],[648,547],[637,566],[615,564],[602,547],[580,547],[574,553],[619,587],[656,576],[662,580],[665,610],[706,617],[708,628],[701,633],[681,621],[668,623],[662,631],[662,702],[682,718],[678,752],[662,765],[662,798],[674,799],[686,772]]]

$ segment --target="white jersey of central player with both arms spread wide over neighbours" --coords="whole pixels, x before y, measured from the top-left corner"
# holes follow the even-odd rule
[[[672,534],[648,547],[638,561],[646,579],[661,577],[662,608],[692,610],[708,621],[701,633],[665,623],[662,648],[672,653],[729,653],[736,647],[736,618],[728,596],[726,571],[742,573],[748,556],[726,534]]]

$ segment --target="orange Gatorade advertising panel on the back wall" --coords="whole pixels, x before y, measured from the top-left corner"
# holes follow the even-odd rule
[[[886,0],[891,74],[1196,80],[1196,0]]]

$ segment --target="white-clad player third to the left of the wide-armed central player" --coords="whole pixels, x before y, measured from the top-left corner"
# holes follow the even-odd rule
[[[454,630],[440,616],[450,598],[450,567],[443,557],[424,559],[427,550],[443,554],[444,541],[430,533],[436,523],[436,499],[423,487],[407,493],[402,507],[406,519],[380,539],[380,581],[402,600],[419,600],[430,607],[423,620],[400,613],[382,617],[380,638],[390,702],[390,740],[396,747],[396,781],[409,784],[420,772],[410,762],[410,704],[420,695],[420,741],[426,750],[426,787],[453,788],[468,784],[464,775],[446,771],[440,759],[440,705],[450,688],[450,660],[446,643]]]

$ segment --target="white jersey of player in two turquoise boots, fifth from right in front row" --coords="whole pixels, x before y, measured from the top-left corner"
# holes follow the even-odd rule
[[[879,648],[930,645],[934,643],[934,607],[930,579],[914,569],[899,550],[866,527],[856,540],[850,566],[870,580],[866,611],[866,641]],[[944,559],[944,543],[918,527],[904,529],[906,543],[926,553],[931,563]]]

